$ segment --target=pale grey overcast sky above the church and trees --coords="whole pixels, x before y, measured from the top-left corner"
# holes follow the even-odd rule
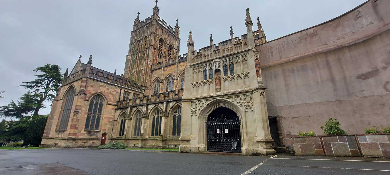
[[[267,40],[317,25],[340,16],[365,0],[160,0],[160,17],[171,26],[179,19],[181,52],[186,52],[188,31],[195,49],[246,32],[245,8],[257,30],[260,17]],[[57,64],[63,73],[78,56],[86,63],[118,74],[124,70],[133,21],[152,15],[154,0],[0,0],[0,105],[25,93],[21,82],[34,80],[35,67]],[[46,104],[49,106],[50,104]],[[40,114],[50,113],[50,108]]]

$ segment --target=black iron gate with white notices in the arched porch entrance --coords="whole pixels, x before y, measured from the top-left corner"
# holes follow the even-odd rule
[[[240,120],[237,115],[209,116],[206,128],[207,151],[241,153]]]

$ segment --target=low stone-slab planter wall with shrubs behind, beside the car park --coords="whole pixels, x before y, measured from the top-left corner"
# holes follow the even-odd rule
[[[390,158],[390,134],[293,137],[296,156]]]

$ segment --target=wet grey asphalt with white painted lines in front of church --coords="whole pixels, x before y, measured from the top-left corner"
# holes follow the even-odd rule
[[[0,149],[0,175],[389,175],[390,159]]]

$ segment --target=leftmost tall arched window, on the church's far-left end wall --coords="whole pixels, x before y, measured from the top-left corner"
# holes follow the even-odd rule
[[[62,116],[61,116],[60,126],[58,126],[58,130],[66,130],[66,128],[68,128],[69,117],[71,115],[72,105],[74,100],[73,86],[71,86],[68,89],[64,99],[65,99],[64,101],[65,105],[64,108],[62,109]]]

